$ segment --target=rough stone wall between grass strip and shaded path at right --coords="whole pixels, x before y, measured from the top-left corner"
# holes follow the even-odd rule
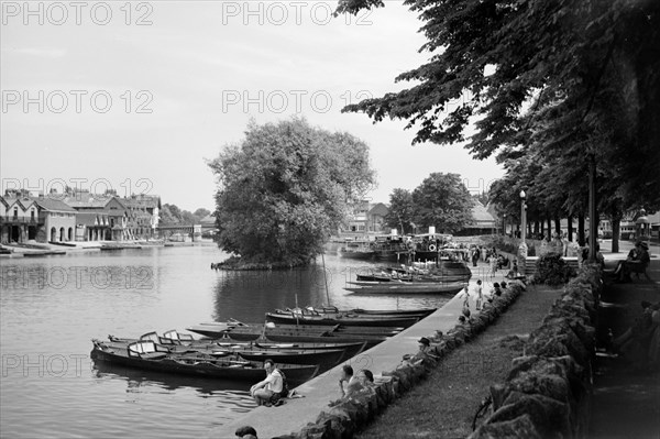
[[[505,383],[491,387],[491,415],[470,439],[586,436],[601,287],[598,268],[583,266],[531,332]]]

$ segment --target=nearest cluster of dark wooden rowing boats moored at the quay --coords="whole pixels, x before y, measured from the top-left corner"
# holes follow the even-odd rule
[[[257,382],[272,359],[288,381],[305,382],[395,336],[435,309],[294,308],[266,314],[266,323],[206,322],[163,334],[92,340],[91,358],[129,367]]]

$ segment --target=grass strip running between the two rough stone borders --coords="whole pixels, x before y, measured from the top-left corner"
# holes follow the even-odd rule
[[[504,381],[512,359],[522,354],[524,339],[541,325],[562,290],[530,286],[499,319],[447,355],[425,382],[387,407],[356,437],[468,437],[490,386]]]

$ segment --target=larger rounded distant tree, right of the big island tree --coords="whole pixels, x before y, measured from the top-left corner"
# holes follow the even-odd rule
[[[458,174],[432,173],[413,191],[415,223],[453,233],[472,222],[474,200]]]

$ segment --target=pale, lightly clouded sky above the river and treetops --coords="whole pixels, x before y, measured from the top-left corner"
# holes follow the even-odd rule
[[[395,77],[429,59],[417,15],[386,3],[333,19],[336,1],[2,2],[2,193],[109,188],[213,210],[207,161],[250,119],[293,116],[370,145],[374,202],[433,172],[486,190],[503,175],[493,158],[341,113],[410,87]]]

